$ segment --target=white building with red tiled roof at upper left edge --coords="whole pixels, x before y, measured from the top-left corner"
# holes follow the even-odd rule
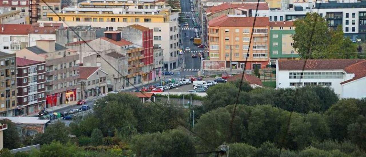
[[[0,24],[0,51],[12,54],[28,47],[30,25]]]

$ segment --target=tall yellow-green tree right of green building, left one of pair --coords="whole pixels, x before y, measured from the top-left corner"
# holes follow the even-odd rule
[[[294,48],[303,59],[323,58],[330,36],[328,23],[317,12],[306,14],[294,22]]]

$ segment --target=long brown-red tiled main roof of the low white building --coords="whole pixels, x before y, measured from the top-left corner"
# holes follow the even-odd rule
[[[280,70],[343,70],[347,66],[363,61],[365,59],[279,60],[278,66]]]

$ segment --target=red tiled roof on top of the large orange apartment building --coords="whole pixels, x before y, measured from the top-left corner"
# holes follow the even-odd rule
[[[209,26],[212,27],[252,27],[254,17],[228,17],[227,15],[221,15],[209,21]],[[268,17],[257,17],[255,20],[255,27],[269,26]]]

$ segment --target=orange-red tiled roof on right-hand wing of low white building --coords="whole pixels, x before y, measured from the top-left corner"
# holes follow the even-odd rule
[[[355,76],[350,80],[341,82],[341,84],[345,84],[366,77],[366,61],[361,61],[353,65],[347,66],[346,68],[344,68],[344,71],[346,71],[347,73],[353,73],[355,74]]]

